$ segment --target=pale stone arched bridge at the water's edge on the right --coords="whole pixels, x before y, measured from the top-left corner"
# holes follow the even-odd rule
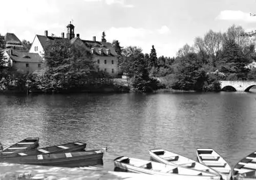
[[[256,86],[256,81],[220,81],[221,89],[225,87],[233,87],[237,91],[249,91]]]

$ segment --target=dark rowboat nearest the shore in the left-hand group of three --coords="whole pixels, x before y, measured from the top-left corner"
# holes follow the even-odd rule
[[[102,165],[102,157],[103,152],[101,150],[90,150],[19,157],[1,157],[0,162],[40,166],[83,167]]]

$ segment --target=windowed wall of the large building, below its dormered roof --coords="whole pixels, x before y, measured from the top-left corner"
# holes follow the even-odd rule
[[[99,60],[99,63],[98,63]],[[104,63],[106,60],[106,64]],[[113,63],[112,64],[112,60]],[[117,64],[117,57],[113,56],[94,56],[93,61],[95,65],[98,66],[99,70],[108,72],[111,76],[117,77],[118,75],[118,64]],[[113,69],[113,72],[112,72]]]

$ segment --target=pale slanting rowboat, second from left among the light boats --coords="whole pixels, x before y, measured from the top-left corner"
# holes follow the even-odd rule
[[[177,153],[170,152],[164,149],[151,149],[150,156],[152,160],[157,161],[159,163],[176,165],[180,167],[186,167],[186,168],[191,168],[191,169],[205,171],[205,172],[211,172],[219,175],[219,173],[216,170],[211,169],[204,164],[201,164],[194,160],[188,159],[184,156],[178,155]]]

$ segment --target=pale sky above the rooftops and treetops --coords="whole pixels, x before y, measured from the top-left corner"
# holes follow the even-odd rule
[[[0,33],[33,41],[36,34],[61,36],[72,21],[81,39],[138,46],[158,57],[174,57],[210,29],[225,32],[232,24],[256,30],[256,0],[8,0],[1,1]]]

